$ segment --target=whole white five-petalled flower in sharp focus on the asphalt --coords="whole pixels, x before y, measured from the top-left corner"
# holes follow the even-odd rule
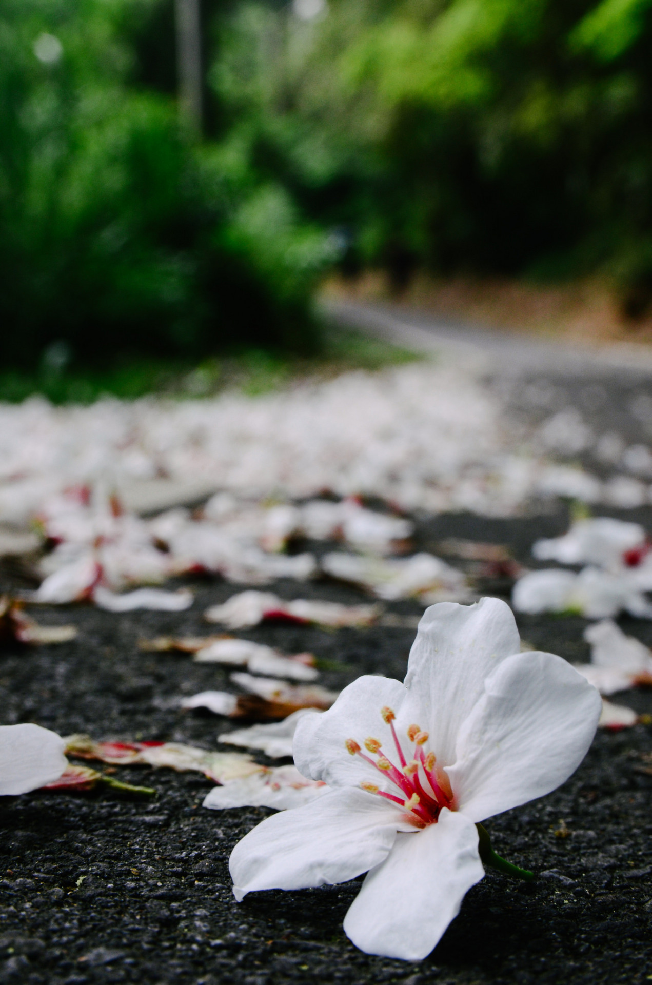
[[[334,789],[233,849],[236,899],[368,875],[344,928],[362,951],[423,958],[484,875],[476,823],[554,790],[589,748],[598,692],[519,653],[496,599],[428,609],[405,685],[362,677],[296,728],[299,772]]]

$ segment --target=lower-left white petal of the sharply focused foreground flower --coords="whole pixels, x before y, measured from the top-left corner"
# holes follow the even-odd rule
[[[228,867],[237,900],[256,889],[344,883],[378,865],[406,825],[402,813],[363,790],[332,790],[249,831]]]

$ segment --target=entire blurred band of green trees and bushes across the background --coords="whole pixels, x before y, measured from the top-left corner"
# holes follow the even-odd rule
[[[652,0],[202,2],[193,139],[174,0],[3,0],[17,396],[75,362],[309,356],[330,270],[599,274],[648,308]]]

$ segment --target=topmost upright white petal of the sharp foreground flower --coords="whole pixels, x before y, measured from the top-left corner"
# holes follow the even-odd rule
[[[460,726],[483,695],[486,678],[519,650],[516,621],[499,599],[426,609],[410,651],[409,696],[400,714],[394,708],[399,735],[417,723],[429,732],[428,748],[440,764],[453,763]]]

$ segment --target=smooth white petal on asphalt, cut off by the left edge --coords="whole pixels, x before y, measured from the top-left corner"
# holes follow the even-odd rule
[[[0,795],[26,794],[56,780],[68,766],[65,742],[39,725],[0,726]]]

